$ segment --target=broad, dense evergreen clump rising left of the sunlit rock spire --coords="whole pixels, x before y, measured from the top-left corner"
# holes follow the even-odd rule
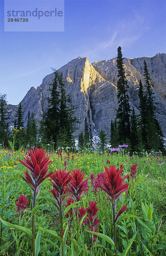
[[[48,98],[49,108],[40,122],[40,134],[44,143],[55,142],[56,146],[73,146],[77,122],[75,106],[72,106],[70,95],[66,95],[62,73],[54,72],[54,81],[50,84],[51,96]]]

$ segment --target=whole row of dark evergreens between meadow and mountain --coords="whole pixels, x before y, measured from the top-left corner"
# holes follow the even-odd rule
[[[78,138],[78,148],[93,148],[97,143],[100,151],[106,149],[109,143],[112,147],[119,144],[129,145],[129,149],[134,151],[156,150],[165,152],[163,133],[156,117],[156,103],[154,101],[154,91],[149,70],[144,61],[144,81],[140,80],[138,97],[140,100],[137,115],[135,107],[129,104],[129,85],[125,76],[123,66],[123,55],[121,47],[117,49],[117,101],[116,118],[111,121],[110,137],[104,129],[101,129],[98,142],[92,136],[92,123],[88,111],[84,120],[84,131],[81,131]],[[24,124],[24,113],[20,103],[14,114],[14,122],[9,126],[8,106],[6,95],[0,95],[0,144],[7,147],[8,140],[12,141],[14,133],[17,133],[16,148],[21,146],[44,146],[47,144],[57,148],[74,147],[75,140],[73,133],[77,129],[76,123],[79,121],[75,117],[76,107],[72,105],[70,95],[66,94],[66,85],[63,74],[54,70],[54,81],[49,84],[50,97],[48,100],[48,110],[43,113],[40,123],[34,119],[34,113],[28,113],[27,123]],[[88,119],[88,120],[87,120]],[[89,123],[89,125],[88,125]]]

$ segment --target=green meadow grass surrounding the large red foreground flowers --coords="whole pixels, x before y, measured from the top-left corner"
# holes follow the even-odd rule
[[[28,151],[21,151],[17,156],[12,156],[14,152],[8,149],[0,150],[0,217],[8,223],[20,225],[31,230],[31,208],[33,201],[33,193],[29,186],[19,175],[23,175],[26,167],[20,160],[24,160],[24,156]],[[132,217],[121,218],[117,222],[117,250],[118,255],[129,256],[165,256],[166,255],[166,157],[161,153],[142,154],[132,156],[126,151],[125,154],[104,152],[65,152],[61,155],[58,151],[47,152],[52,160],[49,165],[49,172],[55,172],[56,169],[64,169],[66,161],[66,170],[80,169],[85,172],[85,178],[89,178],[93,173],[95,177],[103,172],[104,167],[115,165],[116,168],[123,165],[123,177],[130,175],[131,167],[137,163],[137,176],[132,179],[129,177],[128,192],[124,192],[117,200],[117,211],[123,206],[128,206],[126,212]],[[161,164],[163,163],[163,164]],[[126,180],[127,182],[127,180]],[[35,214],[35,236],[40,236],[38,251],[36,255],[54,256],[61,255],[60,242],[49,233],[39,231],[40,227],[45,230],[56,231],[60,233],[59,212],[57,208],[46,197],[52,197],[49,192],[52,184],[49,178],[43,181],[40,193],[37,195],[36,205],[43,204]],[[89,180],[89,191],[82,196],[78,207],[88,207],[89,201],[97,201],[97,218],[100,219],[98,224],[98,233],[108,236],[114,241],[112,209],[107,195],[99,190],[97,198]],[[15,212],[17,198],[25,195],[29,201],[28,209],[24,212],[23,218]],[[45,198],[43,198],[45,197]],[[52,197],[53,198],[53,197]],[[66,198],[67,200],[67,198]],[[63,205],[63,210],[64,210]],[[152,215],[147,218],[146,214]],[[122,216],[123,216],[122,215]],[[133,216],[141,218],[136,218]],[[69,220],[68,220],[69,221]],[[78,244],[74,244],[76,225],[73,221],[72,231],[66,231],[66,241],[64,242],[66,256],[68,255],[115,255],[114,247],[107,239],[97,237],[94,244],[91,241],[91,235],[87,232],[87,227],[83,225],[80,232],[80,240]],[[63,230],[67,229],[66,218],[63,218]],[[68,234],[68,235],[67,235]],[[70,238],[69,238],[70,237]],[[132,238],[134,237],[133,241]],[[19,239],[19,245],[18,245]],[[76,239],[77,240],[77,239]],[[36,240],[37,241],[37,240]],[[132,245],[125,254],[125,250],[129,243]],[[37,242],[36,242],[37,243]],[[21,246],[20,246],[21,245]],[[0,255],[32,255],[32,242],[27,234],[6,227],[0,222]],[[20,246],[20,247],[19,247]],[[59,249],[58,249],[59,248]]]

